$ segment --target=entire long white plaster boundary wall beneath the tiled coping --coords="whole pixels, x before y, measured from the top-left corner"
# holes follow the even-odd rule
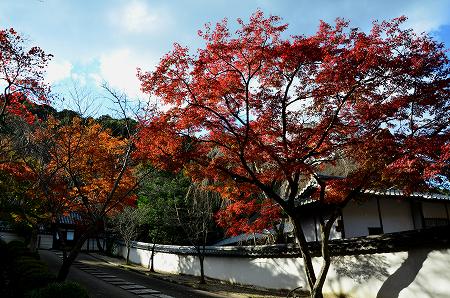
[[[125,248],[118,254],[125,257]],[[148,266],[150,251],[132,248],[130,260]],[[142,259],[139,259],[141,256]],[[320,259],[314,260],[316,271]],[[155,270],[199,275],[198,260],[188,255],[155,254]],[[335,257],[324,286],[331,297],[450,297],[450,249],[412,250]],[[301,258],[206,257],[206,276],[265,288],[306,286]]]

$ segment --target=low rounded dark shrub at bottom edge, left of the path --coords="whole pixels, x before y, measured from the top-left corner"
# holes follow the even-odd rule
[[[87,290],[75,282],[51,283],[29,292],[29,298],[89,298]]]

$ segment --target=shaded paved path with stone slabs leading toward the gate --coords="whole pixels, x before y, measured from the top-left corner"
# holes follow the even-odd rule
[[[62,262],[61,253],[48,250],[40,250],[39,253],[41,259],[49,264],[50,271],[56,273]],[[84,285],[91,297],[222,297],[124,270],[84,253],[80,253],[72,265],[68,280]]]

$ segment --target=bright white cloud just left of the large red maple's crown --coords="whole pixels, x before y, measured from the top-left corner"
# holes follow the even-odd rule
[[[155,60],[151,57],[137,55],[129,48],[114,50],[100,57],[100,73],[90,74],[97,83],[104,80],[111,87],[125,92],[131,97],[142,97],[140,82],[136,76],[137,67],[150,69]],[[153,63],[153,64],[152,64]]]

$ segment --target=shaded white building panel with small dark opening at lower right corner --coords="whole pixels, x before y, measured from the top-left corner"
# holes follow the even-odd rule
[[[362,203],[351,201],[342,214],[346,238],[367,236],[368,227],[380,227],[376,199],[371,198]]]

